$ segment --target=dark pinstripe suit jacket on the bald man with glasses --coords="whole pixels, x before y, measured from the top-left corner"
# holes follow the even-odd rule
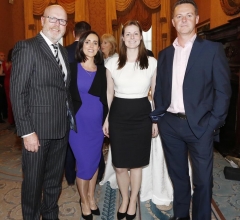
[[[36,132],[39,139],[59,139],[69,129],[66,99],[72,109],[68,92],[70,70],[66,49],[61,45],[59,48],[68,72],[66,86],[62,71],[40,34],[14,47],[10,96],[19,136]]]

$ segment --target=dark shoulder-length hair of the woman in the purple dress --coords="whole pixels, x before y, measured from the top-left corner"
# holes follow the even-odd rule
[[[100,47],[100,38],[95,31],[90,30],[90,31],[85,31],[84,33],[82,33],[82,35],[78,41],[76,53],[75,53],[75,59],[78,62],[85,62],[87,60],[87,57],[83,52],[83,44],[84,44],[85,40],[87,39],[88,35],[90,35],[90,34],[94,34],[98,37],[98,46]],[[103,63],[103,55],[102,55],[101,50],[98,50],[97,54],[95,55],[94,63],[96,65]]]

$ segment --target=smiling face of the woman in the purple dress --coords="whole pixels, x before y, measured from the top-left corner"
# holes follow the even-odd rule
[[[89,34],[87,36],[83,43],[83,53],[86,55],[86,57],[94,57],[97,54],[99,50],[98,41],[98,36],[95,34]]]

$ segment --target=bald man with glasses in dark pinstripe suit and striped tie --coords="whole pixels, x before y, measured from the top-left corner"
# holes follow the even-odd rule
[[[13,50],[11,101],[17,134],[23,139],[22,213],[24,220],[58,219],[64,160],[72,108],[66,50],[58,43],[67,14],[51,5],[41,17],[42,31]],[[52,44],[58,46],[56,54]],[[67,108],[67,104],[70,106]]]

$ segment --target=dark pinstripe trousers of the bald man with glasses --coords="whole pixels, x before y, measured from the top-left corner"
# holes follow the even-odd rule
[[[68,134],[62,139],[39,140],[38,152],[22,150],[22,213],[24,220],[58,218]]]

